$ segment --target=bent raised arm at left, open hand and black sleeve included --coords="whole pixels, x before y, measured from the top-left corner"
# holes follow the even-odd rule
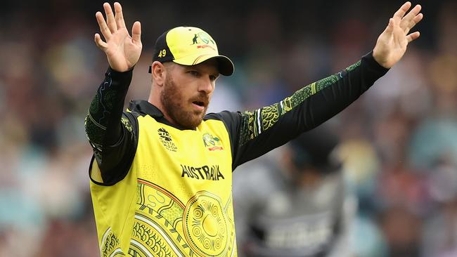
[[[135,137],[132,121],[122,115],[124,100],[131,82],[132,69],[141,54],[141,25],[135,22],[132,36],[125,27],[122,7],[114,4],[115,13],[108,3],[103,4],[106,20],[101,12],[96,20],[101,33],[95,34],[98,48],[106,54],[110,67],[105,79],[92,100],[85,126],[89,143],[101,174],[91,174],[97,182],[112,184],[128,171],[134,153]]]

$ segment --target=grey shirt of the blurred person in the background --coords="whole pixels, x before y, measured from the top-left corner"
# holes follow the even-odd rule
[[[349,255],[342,244],[347,239],[342,172],[298,187],[266,157],[241,166],[234,175],[240,256]]]

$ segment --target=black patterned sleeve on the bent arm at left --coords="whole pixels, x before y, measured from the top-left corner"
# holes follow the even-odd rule
[[[136,119],[122,113],[132,73],[108,68],[85,119],[86,135],[105,185],[124,178],[136,151]]]

